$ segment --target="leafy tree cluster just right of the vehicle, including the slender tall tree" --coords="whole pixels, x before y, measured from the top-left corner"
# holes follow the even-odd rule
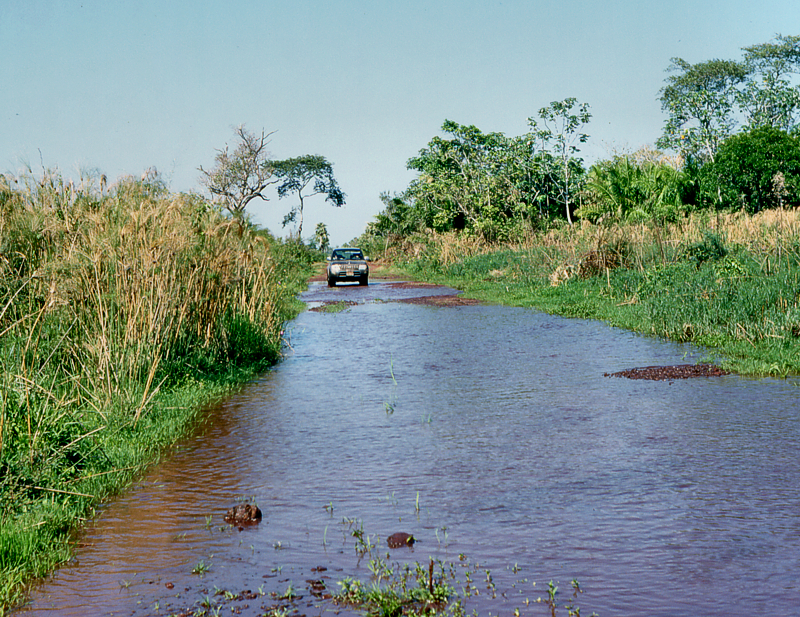
[[[555,125],[534,123],[536,131],[517,137],[445,120],[443,135],[409,159],[408,169],[417,177],[408,188],[402,195],[382,195],[386,209],[371,231],[462,231],[505,240],[553,217],[568,216],[570,195],[584,174],[572,140],[587,138],[578,128],[588,121],[588,106],[573,114],[575,99],[555,105],[540,110]]]

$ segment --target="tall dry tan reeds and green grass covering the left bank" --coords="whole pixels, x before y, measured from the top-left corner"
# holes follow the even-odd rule
[[[154,172],[0,176],[0,615],[201,403],[279,358],[310,261]]]

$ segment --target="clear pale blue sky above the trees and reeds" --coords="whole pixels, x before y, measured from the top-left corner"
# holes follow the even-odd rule
[[[277,131],[276,158],[321,154],[347,193],[304,231],[359,235],[402,191],[445,119],[519,135],[568,96],[589,103],[587,162],[658,138],[670,58],[739,59],[800,34],[797,0],[0,0],[0,172],[29,163],[110,180],[151,166],[173,191],[233,128]],[[284,235],[293,202],[249,208]]]

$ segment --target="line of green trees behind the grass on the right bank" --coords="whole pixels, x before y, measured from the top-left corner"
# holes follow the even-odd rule
[[[417,176],[360,241],[456,232],[508,242],[575,219],[676,222],[698,210],[756,213],[800,205],[800,36],[746,47],[741,60],[673,58],[659,92],[667,115],[658,148],[588,169],[591,119],[574,98],[555,101],[509,137],[447,120],[408,161]]]

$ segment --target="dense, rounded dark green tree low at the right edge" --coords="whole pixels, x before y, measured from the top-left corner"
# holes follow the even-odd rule
[[[760,127],[725,140],[700,170],[705,201],[759,212],[800,206],[800,138]]]

